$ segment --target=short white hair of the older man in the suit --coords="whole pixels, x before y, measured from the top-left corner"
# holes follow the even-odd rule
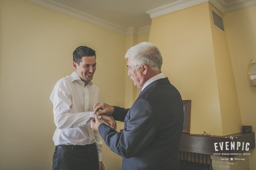
[[[151,42],[141,42],[129,50],[125,54],[125,58],[129,58],[131,64],[139,69],[142,64],[146,64],[149,68],[161,70],[163,59],[158,48]]]

